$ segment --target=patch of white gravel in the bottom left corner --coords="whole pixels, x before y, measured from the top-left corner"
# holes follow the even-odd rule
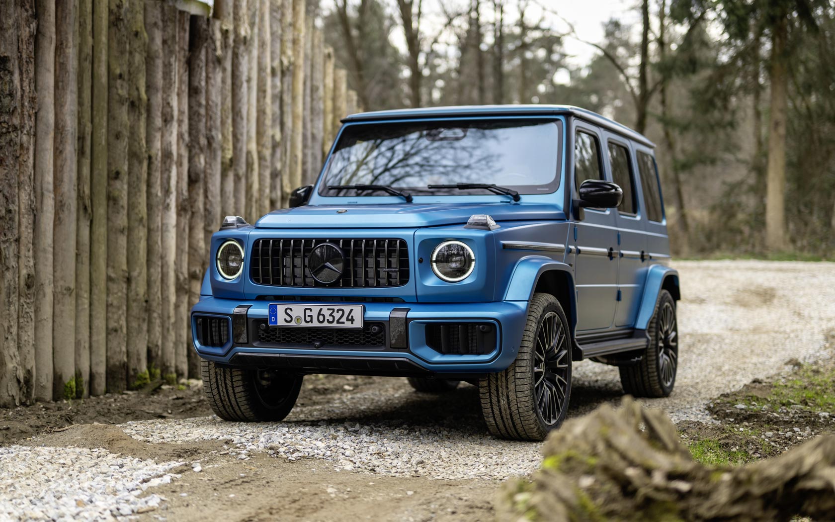
[[[164,500],[145,489],[180,475],[104,449],[0,448],[0,520],[109,520],[145,513]]]

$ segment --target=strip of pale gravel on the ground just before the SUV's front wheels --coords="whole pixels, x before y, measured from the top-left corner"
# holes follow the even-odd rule
[[[149,443],[230,440],[230,454],[266,451],[289,460],[331,461],[337,469],[435,479],[504,479],[539,465],[539,444],[497,440],[439,426],[395,423],[227,423],[218,418],[142,421],[120,426]]]

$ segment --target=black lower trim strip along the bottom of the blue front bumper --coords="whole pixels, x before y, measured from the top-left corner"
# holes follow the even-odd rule
[[[233,366],[282,368],[299,373],[342,373],[376,377],[422,377],[431,374],[405,357],[333,357],[293,353],[237,353]]]

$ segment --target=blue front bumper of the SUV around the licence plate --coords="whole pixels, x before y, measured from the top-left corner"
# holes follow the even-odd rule
[[[300,304],[300,303],[293,303]],[[311,302],[311,304],[338,304]],[[348,303],[347,303],[348,304]],[[349,303],[357,304],[357,303]],[[364,322],[384,327],[384,346],[334,347],[326,342],[317,346],[264,346],[258,341],[258,326],[267,320],[267,301],[246,301],[204,297],[191,311],[192,342],[205,359],[240,366],[283,367],[304,373],[356,373],[369,375],[413,376],[433,373],[468,375],[500,372],[514,362],[522,339],[528,302],[408,303],[363,302]],[[246,307],[248,309],[244,311]],[[236,332],[231,327],[235,309]],[[241,316],[245,313],[245,319]],[[230,328],[222,347],[204,346],[197,334],[197,317],[219,317]],[[483,323],[496,328],[495,347],[480,354],[442,353],[429,346],[428,325],[456,322]],[[240,327],[247,328],[247,342],[240,340]],[[325,332],[327,329],[324,329]],[[405,333],[405,336],[403,335]]]

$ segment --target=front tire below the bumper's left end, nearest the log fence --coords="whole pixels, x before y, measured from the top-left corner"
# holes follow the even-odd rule
[[[283,420],[299,396],[303,376],[230,367],[202,359],[203,391],[218,417],[243,423]]]

